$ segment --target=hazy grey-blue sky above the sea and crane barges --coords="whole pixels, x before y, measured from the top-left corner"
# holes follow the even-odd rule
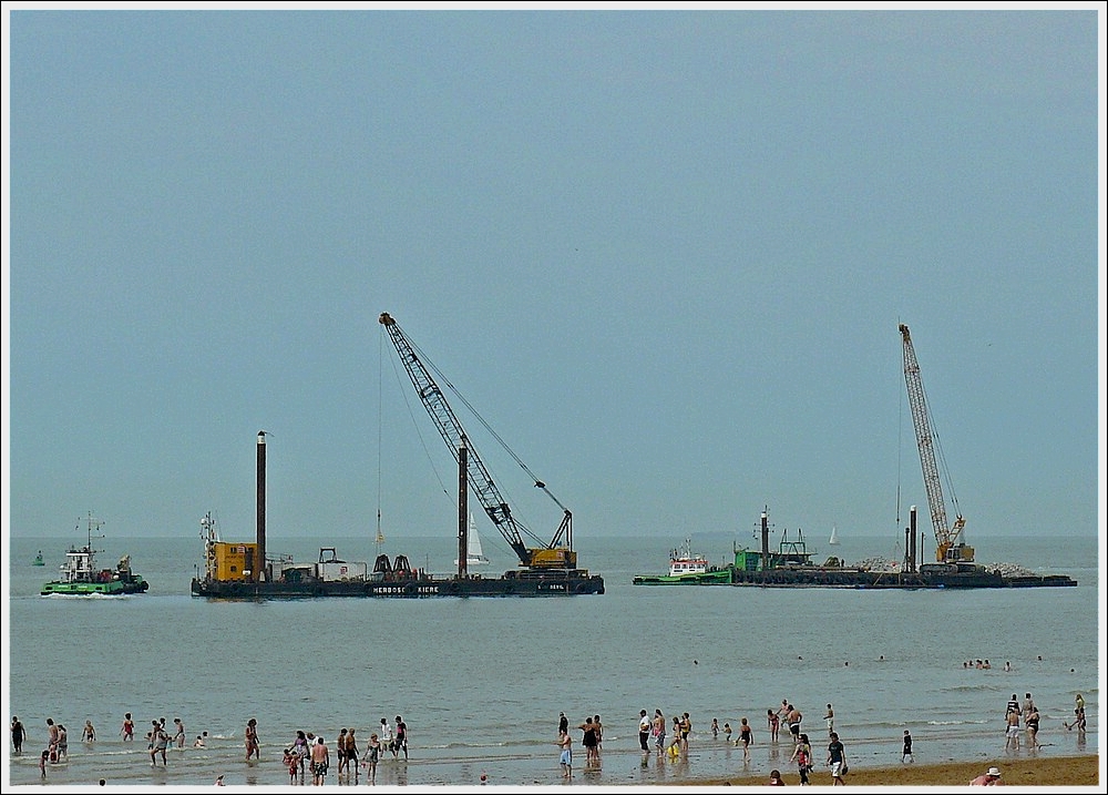
[[[382,312],[578,544],[930,530],[900,323],[967,539],[1097,532],[1092,10],[8,21],[12,534],[249,539],[266,429],[271,534],[452,536]]]

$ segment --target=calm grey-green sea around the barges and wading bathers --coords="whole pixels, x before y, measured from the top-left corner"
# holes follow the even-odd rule
[[[815,560],[900,560],[896,540],[818,539]],[[236,540],[227,538],[225,540]],[[253,538],[247,534],[243,541]],[[387,755],[377,786],[553,788],[566,785],[555,746],[558,713],[576,727],[599,715],[599,763],[586,766],[574,730],[570,786],[679,785],[772,768],[796,773],[782,727],[771,742],[767,711],[782,700],[803,714],[803,730],[824,758],[824,713],[851,767],[902,764],[904,730],[915,764],[1097,754],[1104,683],[1104,604],[1095,534],[1080,538],[974,537],[977,560],[1068,574],[1076,588],[997,590],[762,589],[634,585],[635,574],[666,573],[683,538],[575,538],[578,564],[604,577],[605,593],[562,598],[301,599],[219,601],[189,593],[202,556],[199,536],[104,538],[98,562],[130,554],[151,583],[131,597],[40,597],[70,543],[82,539],[11,538],[3,655],[4,705],[28,731],[21,756],[9,743],[4,792],[23,786],[170,786],[195,791],[224,776],[229,786],[288,789],[281,762],[297,730],[331,746],[328,786],[365,785],[337,775],[334,741],[355,727],[362,747],[387,717],[409,727],[409,758]],[[506,543],[483,536],[491,574],[515,568]],[[693,536],[693,551],[725,563],[749,534]],[[271,537],[271,556],[372,561],[404,554],[435,573],[453,568],[448,538],[307,539]],[[44,567],[31,564],[41,551]],[[989,669],[976,661],[987,660]],[[1005,670],[1010,667],[1010,670]],[[1043,718],[1033,751],[1005,750],[1009,697],[1030,693]],[[1088,732],[1065,727],[1075,699]],[[688,712],[687,756],[638,748],[639,710],[671,724]],[[120,735],[124,713],[136,738]],[[151,721],[185,726],[184,748],[151,767]],[[244,731],[257,720],[260,761],[245,760]],[[47,767],[47,718],[66,726],[69,755]],[[712,720],[720,731],[710,731]],[[747,718],[749,758],[731,737]],[[86,721],[96,740],[81,741]],[[207,732],[203,748],[193,741]],[[849,779],[849,776],[848,776]],[[1101,781],[1104,762],[1101,762]],[[818,764],[815,784],[829,784]],[[848,782],[849,783],[849,782]],[[962,784],[956,782],[954,784]],[[311,784],[310,773],[306,784]]]

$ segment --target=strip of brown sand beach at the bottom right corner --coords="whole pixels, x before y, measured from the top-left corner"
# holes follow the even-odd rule
[[[850,760],[847,760],[848,764]],[[848,786],[964,786],[991,765],[1001,769],[1001,779],[1008,786],[1056,786],[1056,787],[1097,787],[1102,792],[1104,778],[1100,771],[1100,757],[1097,754],[1085,756],[1050,756],[1024,760],[996,760],[995,762],[945,762],[934,765],[915,763],[896,767],[858,767],[851,768],[843,781]],[[788,786],[800,784],[800,776],[794,765],[781,767],[781,779]],[[831,784],[831,775],[827,768],[815,768],[809,776],[815,786]],[[690,786],[762,786],[768,776],[728,776],[704,781],[688,781]]]

